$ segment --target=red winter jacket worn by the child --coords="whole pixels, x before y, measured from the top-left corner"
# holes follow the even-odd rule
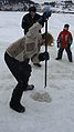
[[[60,32],[57,37],[57,42],[60,42],[61,47],[65,49],[67,44],[72,44],[73,38],[70,31],[63,30]]]

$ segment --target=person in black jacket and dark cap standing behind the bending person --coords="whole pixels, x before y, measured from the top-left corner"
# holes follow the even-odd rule
[[[39,13],[36,13],[36,8],[34,6],[29,8],[29,13],[27,13],[22,18],[22,29],[24,30],[24,34],[27,34],[27,32],[29,31],[29,29],[33,26],[33,23],[35,23],[40,19],[40,17],[41,16]],[[39,32],[41,33],[41,30]],[[36,67],[41,67],[41,64],[38,63],[38,60],[36,60],[39,53],[40,53],[40,47],[39,47],[38,53],[35,53],[31,58],[31,61]]]

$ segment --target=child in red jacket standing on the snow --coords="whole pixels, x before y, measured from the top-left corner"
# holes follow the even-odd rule
[[[65,49],[65,51],[67,53],[68,61],[73,62],[72,51],[71,51],[71,44],[73,42],[73,37],[72,37],[72,33],[68,31],[68,28],[70,28],[70,26],[67,23],[64,24],[63,31],[61,31],[59,37],[57,37],[59,52],[57,52],[56,60],[62,59],[62,54],[63,54],[63,51]]]

